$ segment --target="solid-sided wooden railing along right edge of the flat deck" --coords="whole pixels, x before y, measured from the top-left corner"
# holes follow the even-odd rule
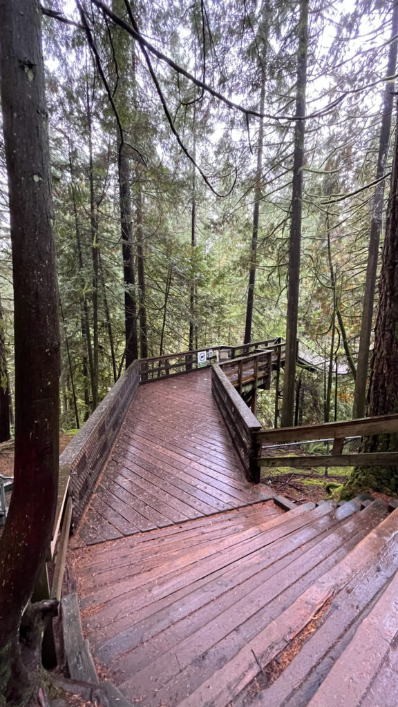
[[[217,364],[212,366],[212,394],[244,465],[246,478],[253,481],[254,432],[261,429],[261,424]]]

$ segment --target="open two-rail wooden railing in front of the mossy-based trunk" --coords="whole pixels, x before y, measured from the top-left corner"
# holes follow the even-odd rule
[[[391,467],[398,466],[398,452],[348,452],[343,454],[346,438],[370,437],[398,433],[398,414],[364,417],[357,420],[327,422],[319,425],[285,427],[278,430],[260,430],[254,433],[254,477],[259,479],[261,467]],[[333,442],[331,452],[325,455],[278,457],[267,456],[267,449],[297,442]]]

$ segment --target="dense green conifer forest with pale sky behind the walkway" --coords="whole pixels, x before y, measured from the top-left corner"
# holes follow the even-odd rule
[[[371,224],[380,225],[388,197],[390,125],[381,160],[380,137],[391,122],[397,6],[137,1],[135,27],[158,57],[104,11],[130,23],[123,0],[84,7],[48,2],[43,27],[62,428],[81,426],[137,356],[285,337],[289,267],[297,335],[324,360],[317,373],[297,373],[300,422],[351,417],[364,305],[375,317],[365,279]],[[7,404],[13,300],[2,144],[0,160]],[[381,248],[382,240],[376,262]],[[259,416],[273,425],[266,394]]]

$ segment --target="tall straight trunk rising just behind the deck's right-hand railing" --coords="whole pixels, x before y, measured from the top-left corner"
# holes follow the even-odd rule
[[[305,115],[308,52],[308,5],[309,0],[300,0],[296,95],[296,115],[299,117]],[[295,149],[293,157],[292,218],[290,222],[288,266],[288,313],[286,318],[285,372],[283,375],[283,401],[280,421],[280,425],[282,427],[292,426],[294,415],[297,317],[300,288],[302,168],[304,166],[304,139],[305,120],[297,119],[295,124]]]

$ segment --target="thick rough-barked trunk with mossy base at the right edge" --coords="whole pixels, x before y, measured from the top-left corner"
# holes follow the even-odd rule
[[[379,311],[375,327],[375,347],[370,362],[368,415],[398,412],[398,115],[394,160],[387,206],[385,243],[379,284]],[[363,440],[364,452],[395,452],[398,434],[384,434]],[[371,488],[384,493],[398,492],[398,467],[358,468],[343,489],[343,498],[358,489]]]

